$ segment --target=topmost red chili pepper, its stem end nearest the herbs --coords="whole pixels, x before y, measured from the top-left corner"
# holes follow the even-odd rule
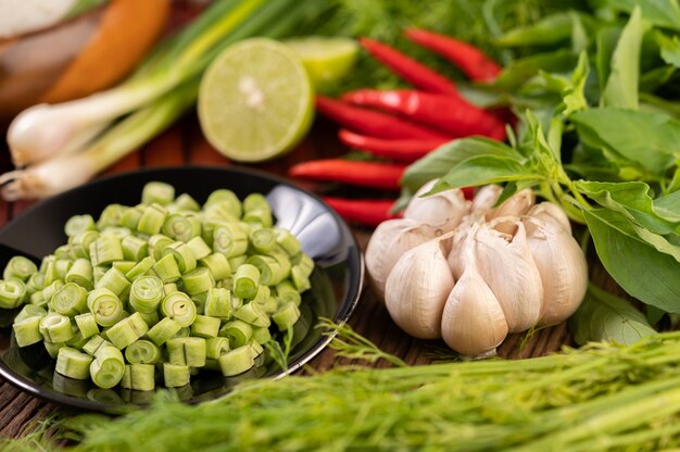
[[[417,45],[451,61],[473,80],[493,81],[501,73],[495,61],[467,42],[419,28],[408,28],[405,34]]]

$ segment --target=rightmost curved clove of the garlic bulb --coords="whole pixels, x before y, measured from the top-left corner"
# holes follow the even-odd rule
[[[543,285],[540,326],[555,325],[576,312],[588,289],[588,263],[578,242],[551,223],[526,217],[527,242]]]

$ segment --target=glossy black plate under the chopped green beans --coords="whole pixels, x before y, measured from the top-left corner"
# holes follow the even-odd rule
[[[175,186],[197,201],[218,188],[228,188],[243,199],[251,192],[266,194],[277,225],[290,229],[304,252],[314,258],[312,289],[305,292],[302,316],[295,324],[289,371],[295,371],[319,353],[330,338],[314,328],[318,317],[347,321],[360,297],[363,280],[362,258],[347,225],[323,201],[284,179],[247,168],[179,167],[137,171],[96,180],[24,212],[0,231],[0,268],[20,252],[42,258],[65,243],[63,225],[72,215],[89,213],[95,218],[112,203],[135,205],[150,180]],[[1,310],[0,310],[1,311]],[[15,312],[4,312],[3,325]],[[179,388],[179,397],[190,403],[217,398],[244,378],[284,375],[273,361],[265,361],[250,373],[225,378],[202,371],[191,384]],[[8,326],[0,328],[0,376],[18,388],[54,402],[86,410],[109,410],[126,404],[146,404],[152,393],[125,389],[99,389],[89,380],[73,380],[54,372],[54,362],[41,343],[18,348]]]

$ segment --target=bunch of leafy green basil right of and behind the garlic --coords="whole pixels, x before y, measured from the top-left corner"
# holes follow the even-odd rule
[[[517,135],[508,146],[471,138],[441,147],[406,171],[405,194],[435,177],[436,190],[505,184],[507,197],[532,187],[587,225],[604,267],[647,304],[648,321],[680,312],[678,32],[670,0],[606,0],[590,13],[559,12],[506,32],[496,42],[540,49],[486,87],[519,116]],[[582,315],[595,300],[591,290],[572,324],[605,327],[582,340],[603,339],[604,330],[627,343],[641,336],[612,331],[639,322],[634,310]]]

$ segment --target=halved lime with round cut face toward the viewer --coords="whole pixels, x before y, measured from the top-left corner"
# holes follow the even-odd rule
[[[227,158],[260,162],[291,150],[308,131],[314,89],[289,47],[253,38],[228,47],[199,90],[205,137]]]

